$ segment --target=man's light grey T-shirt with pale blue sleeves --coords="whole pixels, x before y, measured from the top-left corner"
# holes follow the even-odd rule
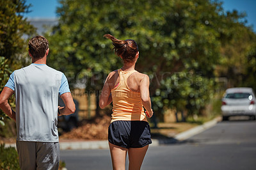
[[[59,141],[58,95],[63,76],[47,65],[31,64],[13,72],[17,141]]]

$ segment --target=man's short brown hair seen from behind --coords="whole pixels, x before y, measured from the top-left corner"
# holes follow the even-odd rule
[[[37,35],[29,40],[28,48],[33,58],[43,58],[49,49],[49,42],[44,36]]]

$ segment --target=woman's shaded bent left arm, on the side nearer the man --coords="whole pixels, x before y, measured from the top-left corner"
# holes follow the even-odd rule
[[[112,73],[109,73],[106,82],[104,83],[104,86],[102,88],[102,91],[100,93],[99,106],[101,109],[104,109],[104,107],[111,104],[112,102],[111,89],[109,87],[109,77],[111,77],[111,74]]]

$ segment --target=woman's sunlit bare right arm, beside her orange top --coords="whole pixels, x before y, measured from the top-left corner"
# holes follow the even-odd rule
[[[143,79],[140,82],[140,94],[142,104],[148,112],[148,117],[151,118],[153,116],[153,110],[151,108],[151,100],[149,95],[149,77],[148,75],[144,75]]]

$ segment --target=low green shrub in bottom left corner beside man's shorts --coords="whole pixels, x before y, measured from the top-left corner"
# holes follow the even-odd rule
[[[20,169],[18,153],[13,147],[0,145],[0,169]]]

